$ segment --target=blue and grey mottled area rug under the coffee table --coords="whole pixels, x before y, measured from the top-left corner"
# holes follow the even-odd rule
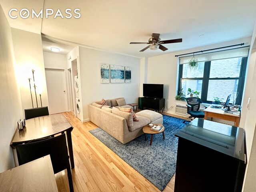
[[[165,139],[162,133],[155,134],[152,146],[149,134],[146,141],[142,135],[122,144],[100,128],[90,133],[162,191],[176,171],[178,138],[174,134],[186,125],[179,118],[167,115],[163,118]]]

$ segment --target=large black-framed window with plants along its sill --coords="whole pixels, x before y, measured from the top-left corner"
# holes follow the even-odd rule
[[[225,51],[224,51],[225,52]],[[219,54],[224,55],[222,52]],[[214,53],[214,57],[218,54]],[[206,59],[204,54],[198,55],[199,66],[196,70],[188,69],[190,58],[180,58],[179,88],[187,94],[188,88],[200,92],[199,98],[203,102],[212,102],[214,97],[223,98],[223,102],[231,94],[230,103],[241,104],[244,87],[245,70],[248,56],[247,52],[232,58]],[[197,56],[196,56],[197,57]],[[207,57],[209,58],[209,57]],[[182,64],[183,63],[183,64]],[[237,95],[237,98],[236,98]],[[190,95],[186,95],[190,97]]]

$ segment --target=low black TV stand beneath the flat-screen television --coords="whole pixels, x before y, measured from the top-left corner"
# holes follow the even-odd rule
[[[142,97],[141,106],[143,108],[150,108],[154,110],[162,110],[164,108],[164,98],[151,98],[151,97]]]

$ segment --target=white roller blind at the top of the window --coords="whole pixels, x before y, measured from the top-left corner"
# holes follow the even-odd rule
[[[243,48],[236,48],[231,50],[198,54],[198,55],[195,55],[195,58],[197,58],[199,62],[206,62],[206,61],[237,58],[237,57],[247,57],[248,51],[249,51],[249,47],[243,47]],[[180,57],[179,58],[180,64],[187,64],[192,59],[192,57],[193,56]]]

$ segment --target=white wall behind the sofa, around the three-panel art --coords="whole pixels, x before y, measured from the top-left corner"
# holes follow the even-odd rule
[[[120,54],[79,47],[80,87],[83,120],[88,120],[88,104],[104,99],[124,97],[126,103],[138,103],[140,59]],[[131,83],[100,83],[100,63],[130,66]]]

